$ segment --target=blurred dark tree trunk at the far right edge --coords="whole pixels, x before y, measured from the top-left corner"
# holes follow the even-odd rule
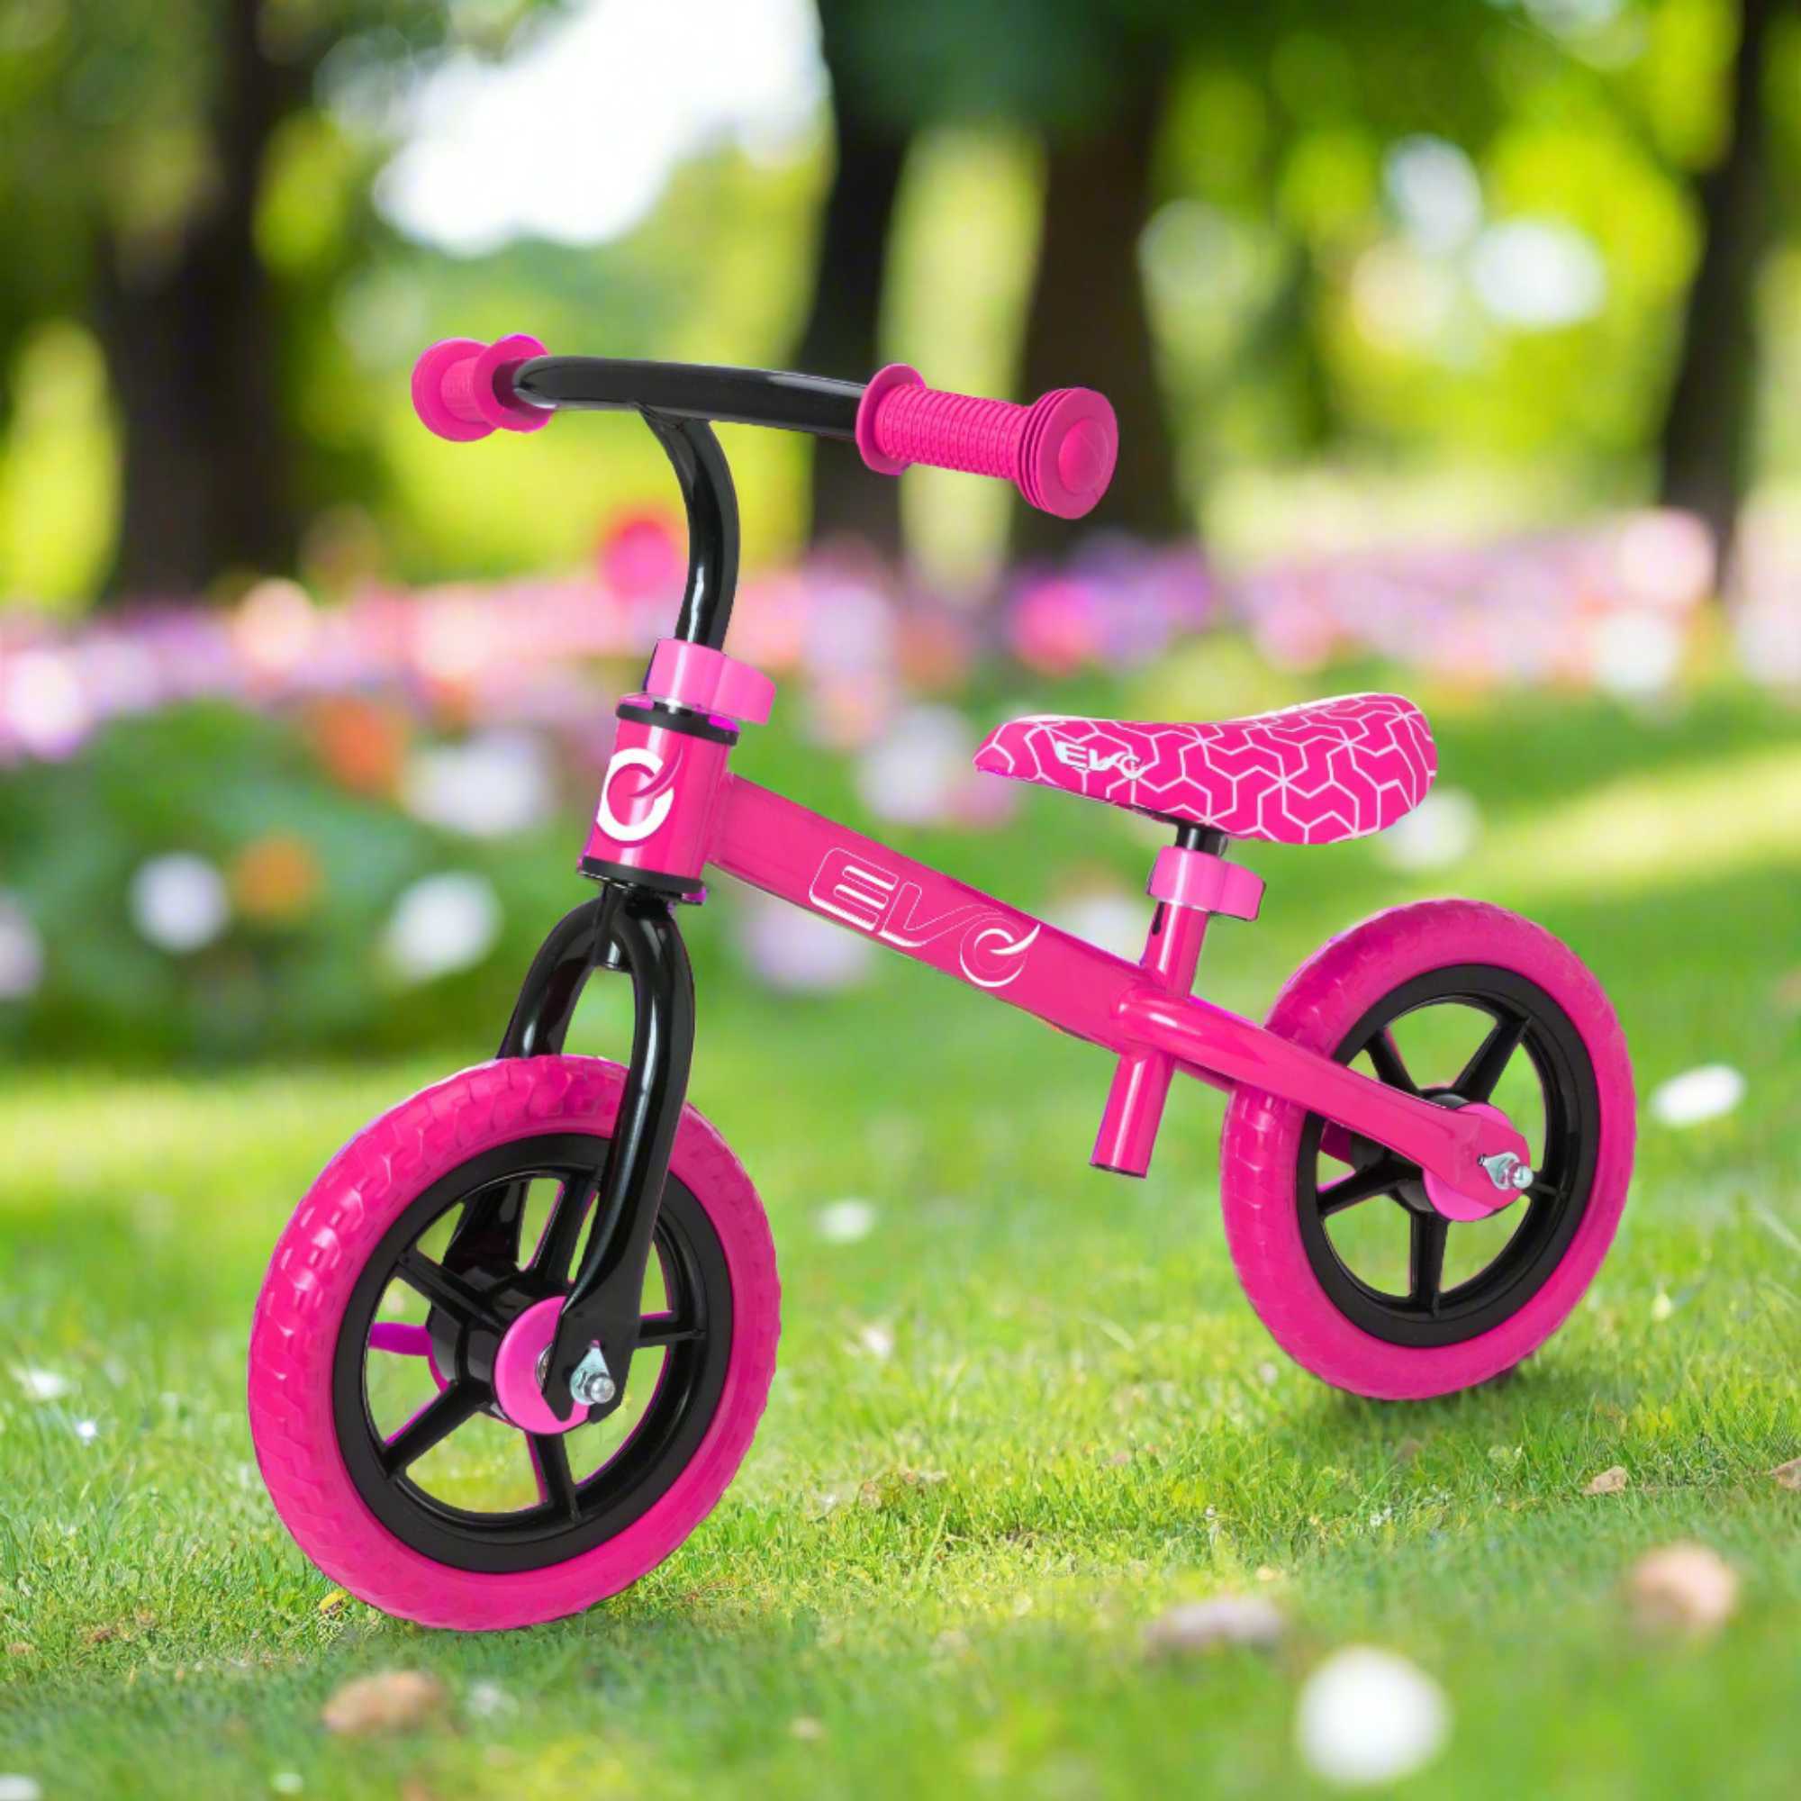
[[[1756,279],[1770,234],[1763,59],[1790,0],[1743,0],[1725,155],[1695,187],[1702,249],[1661,432],[1659,497],[1707,522],[1722,575],[1751,466]]]

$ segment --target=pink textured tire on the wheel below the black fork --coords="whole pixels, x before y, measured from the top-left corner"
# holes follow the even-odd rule
[[[780,1286],[762,1203],[719,1133],[692,1108],[670,1158],[670,1194],[729,1275],[729,1349],[710,1376],[704,1432],[647,1511],[578,1556],[529,1569],[463,1567],[423,1554],[371,1509],[346,1462],[333,1401],[340,1333],[367,1291],[366,1266],[421,1198],[510,1147],[605,1140],[625,1072],[594,1057],[486,1063],[366,1126],[326,1165],[276,1244],[250,1331],[250,1432],[276,1511],[319,1569],[387,1614],[465,1632],[528,1626],[593,1606],[638,1581],[713,1511],[737,1475],[774,1372]],[[598,1158],[600,1153],[591,1153]],[[670,1201],[665,1201],[668,1210]],[[695,1214],[699,1208],[699,1214]],[[704,1216],[704,1225],[701,1223]],[[360,1304],[360,1302],[358,1302]],[[387,1335],[400,1342],[403,1335]],[[391,1349],[380,1340],[378,1347]],[[358,1354],[360,1354],[358,1345]],[[636,1365],[634,1365],[636,1369]],[[722,1376],[720,1376],[722,1371]],[[432,1374],[438,1376],[436,1363]],[[661,1378],[659,1378],[661,1387]],[[342,1396],[342,1390],[340,1390]],[[683,1441],[672,1441],[681,1444]],[[533,1457],[537,1452],[533,1450]],[[540,1473],[540,1497],[548,1502]]]

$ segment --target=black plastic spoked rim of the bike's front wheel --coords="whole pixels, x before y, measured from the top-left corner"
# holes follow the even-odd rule
[[[616,1538],[656,1506],[690,1464],[719,1412],[731,1358],[731,1275],[719,1234],[693,1192],[670,1176],[657,1210],[654,1261],[666,1309],[647,1315],[632,1360],[629,1396],[654,1383],[641,1417],[587,1477],[571,1457],[584,1434],[519,1439],[538,1502],[510,1511],[474,1511],[430,1493],[409,1475],[420,1459],[477,1416],[493,1416],[493,1353],[504,1327],[548,1295],[567,1293],[567,1261],[578,1228],[558,1212],[582,1196],[605,1156],[605,1140],[558,1133],[499,1145],[459,1165],[427,1189],[376,1246],[339,1327],[331,1407],[344,1466],[369,1511],[402,1543],[456,1569],[519,1572],[548,1569]],[[558,1181],[560,1198],[533,1252],[520,1244],[524,1196],[533,1180]],[[420,1241],[448,1214],[457,1225],[439,1257]],[[562,1270],[546,1266],[546,1248],[562,1250]],[[555,1263],[555,1252],[549,1252]],[[429,1331],[448,1387],[398,1432],[376,1425],[369,1360],[382,1297],[403,1282],[429,1302]],[[656,1369],[661,1358],[661,1371]]]

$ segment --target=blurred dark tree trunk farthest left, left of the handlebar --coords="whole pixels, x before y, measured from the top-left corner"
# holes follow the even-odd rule
[[[173,243],[101,247],[95,328],[124,438],[115,598],[294,560],[276,303],[254,225],[268,140],[306,103],[312,70],[270,61],[258,14],[258,0],[223,9],[211,191]]]

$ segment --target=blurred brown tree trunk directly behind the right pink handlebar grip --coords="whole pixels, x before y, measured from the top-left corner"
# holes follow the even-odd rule
[[[1084,529],[1169,538],[1192,529],[1176,486],[1176,454],[1163,414],[1151,319],[1138,270],[1138,238],[1151,213],[1151,157],[1162,117],[1162,79],[1147,74],[1104,135],[1050,144],[1045,227],[1032,283],[1019,398],[1052,387],[1099,387],[1120,421],[1120,457]],[[1014,549],[1061,555],[1068,520],[1021,502]]]

